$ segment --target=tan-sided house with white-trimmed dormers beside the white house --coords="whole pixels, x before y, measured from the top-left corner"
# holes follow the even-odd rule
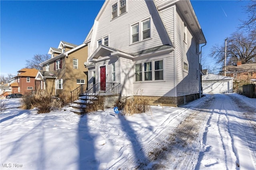
[[[43,71],[36,75],[40,89],[50,95],[58,95],[87,83],[88,69],[84,62],[87,61],[88,47],[85,43],[74,45],[61,41],[58,48],[50,47],[48,53],[52,57],[40,64]]]

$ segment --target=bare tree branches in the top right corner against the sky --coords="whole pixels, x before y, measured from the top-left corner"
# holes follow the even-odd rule
[[[242,21],[240,28],[248,30],[256,30],[256,0],[251,0],[250,3],[244,7],[245,12],[248,13],[247,20]]]

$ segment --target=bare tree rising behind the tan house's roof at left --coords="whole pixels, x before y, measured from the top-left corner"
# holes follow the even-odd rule
[[[43,67],[40,66],[40,63],[50,59],[49,54],[36,54],[32,59],[26,60],[26,68],[32,69],[38,69],[42,70]]]

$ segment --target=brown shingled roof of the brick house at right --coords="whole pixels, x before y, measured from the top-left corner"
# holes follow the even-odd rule
[[[238,65],[238,66],[236,65],[226,66],[226,73],[235,73],[235,72],[256,72],[256,63],[247,63],[247,64]]]

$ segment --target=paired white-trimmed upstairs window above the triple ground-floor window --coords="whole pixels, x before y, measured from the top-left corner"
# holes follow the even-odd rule
[[[131,43],[140,42],[152,37],[150,18],[133,24],[130,29]]]

